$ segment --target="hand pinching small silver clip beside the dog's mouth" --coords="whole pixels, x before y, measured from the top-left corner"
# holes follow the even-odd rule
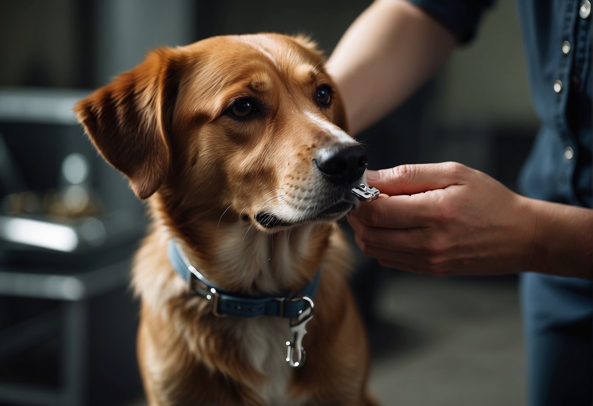
[[[432,275],[517,272],[530,265],[535,218],[527,198],[455,162],[368,171],[380,197],[350,212],[362,252]]]

